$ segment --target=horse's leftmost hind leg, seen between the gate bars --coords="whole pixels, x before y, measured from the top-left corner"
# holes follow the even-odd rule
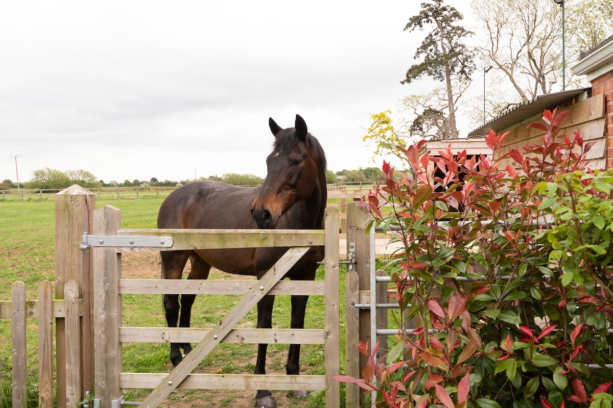
[[[181,279],[183,268],[189,259],[191,251],[162,251],[162,278]],[[168,327],[177,327],[179,318],[179,295],[164,295],[164,310]],[[170,362],[176,366],[181,362],[181,349],[179,343],[170,343]]]

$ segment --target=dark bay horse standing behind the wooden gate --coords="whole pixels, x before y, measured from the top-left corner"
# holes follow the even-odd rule
[[[323,229],[327,204],[326,155],[319,141],[307,131],[304,119],[296,115],[295,127],[283,129],[272,118],[268,125],[275,136],[273,150],[266,158],[268,174],[259,187],[204,180],[186,184],[170,193],[158,213],[158,228],[180,229]],[[211,267],[238,275],[262,278],[287,248],[238,248],[222,250],[161,251],[162,276],[181,279],[188,259],[188,279],[206,279]],[[291,280],[314,280],[323,247],[311,247],[286,274]],[[196,295],[164,295],[169,327],[189,327]],[[257,328],[272,328],[274,295],[257,303]],[[292,295],[291,328],[303,328],[308,296]],[[179,319],[179,311],[180,319]],[[267,344],[259,344],[254,374],[265,374]],[[192,351],[189,343],[171,343],[170,361],[181,362],[180,348]],[[287,374],[299,374],[300,344],[291,344]],[[294,391],[297,398],[307,391]],[[258,390],[256,406],[272,408],[269,390]]]

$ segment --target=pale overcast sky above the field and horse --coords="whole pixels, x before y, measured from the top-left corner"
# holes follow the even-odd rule
[[[453,2],[468,12],[467,2]],[[268,117],[300,114],[329,169],[380,167],[370,115],[429,91],[400,80],[417,1],[0,4],[0,180],[83,169],[105,182],[264,177]],[[481,86],[479,82],[478,87]],[[459,122],[460,136],[468,125]]]

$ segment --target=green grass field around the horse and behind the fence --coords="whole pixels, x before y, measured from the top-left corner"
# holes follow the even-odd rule
[[[121,209],[122,228],[156,228],[156,219],[163,198],[142,199],[102,199],[96,201],[96,207],[105,204]],[[55,213],[53,200],[43,201],[0,201],[0,300],[10,300],[11,285],[23,281],[28,291],[28,299],[36,299],[37,283],[41,280],[53,282],[55,279]],[[132,262],[129,255],[124,262]],[[341,362],[344,359],[345,333],[344,323],[344,270],[341,270]],[[152,272],[152,277],[159,276],[159,270]],[[221,274],[215,279],[232,279],[231,275]],[[323,268],[318,270],[318,279],[323,279]],[[232,296],[199,296],[192,311],[192,327],[212,327],[219,321],[219,316],[230,310],[238,301]],[[324,325],[324,300],[311,297],[307,306],[306,328],[322,328]],[[289,328],[291,305],[289,296],[278,296],[275,300],[273,326]],[[257,312],[250,311],[240,322],[243,327],[255,326]],[[159,295],[124,295],[124,325],[140,327],[166,326],[161,296]],[[28,368],[32,376],[37,373],[37,332],[36,319],[28,319]],[[0,382],[2,390],[10,391],[10,320],[0,320]],[[211,352],[196,369],[202,373],[251,373],[257,345],[221,344]],[[169,371],[170,346],[166,343],[127,343],[124,344],[124,371],[126,372],[166,372]],[[268,347],[268,372],[284,373],[287,357],[287,345],[272,344]],[[322,374],[324,372],[323,346],[305,345],[302,347],[302,374]],[[9,387],[6,383],[9,382]],[[36,377],[31,379],[32,388]],[[126,400],[138,401],[145,396],[146,390],[126,390]],[[178,393],[178,395],[177,395]],[[5,391],[2,391],[4,397]],[[182,390],[173,393],[174,398],[184,401],[189,398],[204,398],[194,391]],[[172,398],[172,397],[171,397]],[[6,398],[3,398],[6,401]],[[4,401],[0,407],[4,407]],[[316,398],[317,405],[321,401]],[[299,404],[300,401],[296,401]],[[292,402],[293,406],[294,402]],[[304,404],[297,406],[305,407]]]

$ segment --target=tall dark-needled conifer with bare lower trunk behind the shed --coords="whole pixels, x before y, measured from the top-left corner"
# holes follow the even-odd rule
[[[423,75],[444,81],[448,120],[444,122],[443,138],[455,139],[458,131],[455,125],[457,94],[454,94],[454,82],[469,80],[474,70],[474,52],[462,43],[462,39],[473,32],[454,24],[463,19],[462,14],[455,7],[443,6],[443,0],[422,3],[421,7],[421,12],[406,24],[405,31],[423,31],[428,25],[434,28],[415,53],[415,58],[423,57],[423,61],[411,65],[401,83],[409,84]]]

